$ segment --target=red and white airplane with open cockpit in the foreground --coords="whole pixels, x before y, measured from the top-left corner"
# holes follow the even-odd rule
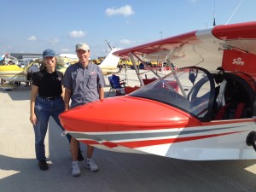
[[[256,22],[213,26],[113,53],[172,73],[61,113],[67,133],[112,151],[182,160],[256,159]],[[137,67],[134,62],[134,67]],[[143,84],[143,82],[142,82]]]

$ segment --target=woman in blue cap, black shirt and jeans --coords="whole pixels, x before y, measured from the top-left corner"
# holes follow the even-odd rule
[[[52,116],[57,125],[61,126],[59,114],[64,111],[64,90],[61,86],[63,74],[55,69],[55,51],[45,49],[43,60],[44,69],[38,73],[34,73],[32,79],[30,121],[35,131],[35,148],[38,166],[41,170],[48,170],[49,166],[45,157],[44,137],[48,128],[49,116]],[[63,130],[62,126],[61,129]],[[67,139],[70,141],[71,137],[67,135]]]

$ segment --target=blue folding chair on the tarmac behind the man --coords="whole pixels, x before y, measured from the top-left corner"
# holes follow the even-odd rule
[[[113,74],[108,77],[108,81],[110,84],[110,90],[108,91],[108,95],[112,94],[113,92],[119,92],[119,95],[125,95],[125,81],[120,80],[119,76]]]

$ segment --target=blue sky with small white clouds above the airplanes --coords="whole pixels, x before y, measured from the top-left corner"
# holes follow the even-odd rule
[[[0,0],[0,55],[74,54],[90,45],[91,58],[216,24],[256,20],[255,0]]]

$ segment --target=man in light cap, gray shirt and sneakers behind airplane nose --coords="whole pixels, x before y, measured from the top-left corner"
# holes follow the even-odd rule
[[[76,44],[76,53],[79,62],[67,67],[64,74],[62,84],[66,88],[64,102],[65,111],[69,110],[69,101],[71,99],[71,108],[76,108],[88,102],[102,100],[104,98],[105,80],[102,70],[97,65],[90,63],[90,49],[88,44]],[[70,150],[72,155],[72,175],[79,176],[81,174],[78,164],[78,148],[79,141],[72,137],[70,142]],[[99,170],[96,163],[91,159],[93,147],[87,145],[87,158],[85,159],[85,167],[91,172]]]

